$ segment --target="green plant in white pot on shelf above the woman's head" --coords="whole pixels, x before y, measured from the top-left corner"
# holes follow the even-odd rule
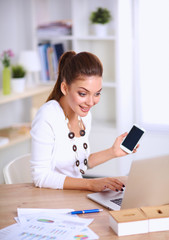
[[[95,27],[97,36],[107,34],[107,24],[112,20],[110,11],[107,8],[98,7],[96,11],[91,12],[90,21]]]

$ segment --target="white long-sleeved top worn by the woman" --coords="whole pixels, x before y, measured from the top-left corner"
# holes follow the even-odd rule
[[[69,129],[60,104],[51,100],[37,112],[32,122],[31,170],[33,181],[38,187],[63,189],[66,176],[82,178],[76,166],[76,157],[80,168],[84,168],[84,159],[89,156],[88,136],[91,128],[91,113],[82,118],[85,136],[68,137]],[[87,150],[83,143],[87,143]],[[77,146],[76,152],[72,146]]]

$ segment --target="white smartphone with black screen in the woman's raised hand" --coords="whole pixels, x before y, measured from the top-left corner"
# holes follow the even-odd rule
[[[144,132],[145,130],[143,128],[140,128],[134,124],[123,142],[120,144],[120,148],[127,153],[132,153],[134,148],[137,146],[140,138],[143,136]]]

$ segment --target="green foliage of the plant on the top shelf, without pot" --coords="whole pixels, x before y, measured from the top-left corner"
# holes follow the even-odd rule
[[[112,19],[111,13],[107,8],[97,8],[96,11],[91,12],[90,21],[92,23],[101,23],[105,24],[110,22]]]

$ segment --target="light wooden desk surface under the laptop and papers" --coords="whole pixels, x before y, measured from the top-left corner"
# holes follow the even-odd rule
[[[94,218],[89,227],[101,240],[167,240],[169,231],[118,237],[109,226],[109,213],[104,207],[89,200],[88,191],[35,188],[33,184],[0,185],[0,229],[15,223],[17,208],[73,208],[76,210],[103,208],[100,213],[80,215]],[[62,239],[63,240],[63,239]]]

